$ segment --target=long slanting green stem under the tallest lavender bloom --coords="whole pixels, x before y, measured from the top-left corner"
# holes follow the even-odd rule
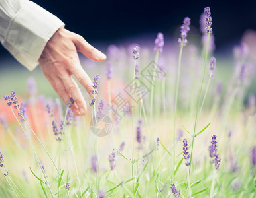
[[[195,123],[194,123],[194,132],[193,132],[193,135],[192,135],[192,147],[191,147],[191,154],[190,154],[189,176],[190,176],[190,173],[191,173],[192,154],[193,154],[193,149],[194,149],[194,138],[195,138],[195,135],[196,135],[196,124],[197,124],[197,121],[198,121],[198,112],[199,112],[202,88],[203,88],[203,85],[204,85],[204,77],[206,75],[206,62],[207,62],[207,55],[208,55],[209,40],[210,40],[210,34],[208,33],[208,41],[207,41],[207,45],[206,45],[206,57],[204,59],[204,75],[203,75],[202,83],[201,83],[201,86],[200,86],[198,104],[197,104],[197,107],[196,107],[196,119],[195,119]]]

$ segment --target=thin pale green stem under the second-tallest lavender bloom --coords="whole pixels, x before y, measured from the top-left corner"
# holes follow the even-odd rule
[[[176,116],[177,116],[177,103],[178,103],[178,87],[180,84],[180,65],[181,65],[181,57],[182,57],[182,51],[183,51],[183,43],[184,38],[182,38],[182,42],[180,44],[180,53],[178,55],[178,75],[177,75],[177,81],[176,81],[176,89],[175,89],[175,104],[174,104],[174,119],[173,119],[173,180],[175,180],[175,133],[176,133]]]

